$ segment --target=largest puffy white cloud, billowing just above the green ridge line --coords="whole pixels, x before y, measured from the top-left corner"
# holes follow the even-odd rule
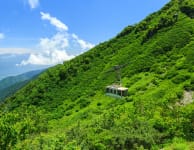
[[[38,46],[39,51],[32,53],[29,58],[23,60],[20,65],[54,65],[70,60],[74,56],[67,54],[67,47],[68,39],[61,33],[57,33],[50,39],[42,38]]]

